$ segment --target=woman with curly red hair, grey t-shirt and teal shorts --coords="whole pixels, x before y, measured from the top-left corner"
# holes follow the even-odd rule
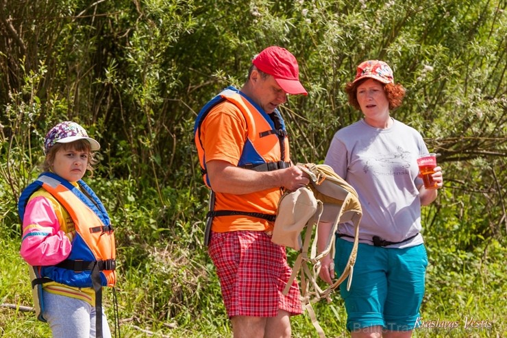
[[[354,338],[411,337],[419,323],[428,265],[421,206],[432,203],[443,186],[441,167],[434,168],[436,189],[425,189],[416,159],[428,148],[417,130],[391,117],[405,89],[395,84],[386,62],[359,64],[345,90],[364,118],[336,132],[325,164],[354,186],[363,213],[354,278],[349,288],[341,285],[347,330]],[[319,239],[328,238],[331,225],[319,228]],[[330,283],[335,273],[341,274],[353,240],[354,225],[340,224],[334,262],[328,256],[322,264],[323,280]]]

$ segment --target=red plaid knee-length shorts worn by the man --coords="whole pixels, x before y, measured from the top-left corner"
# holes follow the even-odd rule
[[[229,317],[275,317],[278,309],[303,313],[296,280],[287,295],[282,293],[292,273],[285,248],[265,232],[212,232],[208,253]]]

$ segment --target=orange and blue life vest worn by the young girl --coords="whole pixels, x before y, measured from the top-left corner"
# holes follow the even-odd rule
[[[32,287],[42,292],[42,283],[54,281],[70,287],[92,287],[101,308],[101,288],[116,284],[116,248],[110,219],[99,197],[82,180],[78,189],[54,173],[42,173],[21,193],[18,212],[21,219],[29,197],[45,189],[64,206],[74,221],[76,236],[69,257],[58,265],[33,267]],[[36,288],[37,287],[37,288]],[[39,301],[42,297],[39,297]],[[43,304],[40,304],[43,309]],[[38,315],[39,319],[44,318]],[[97,315],[97,319],[101,318]],[[98,323],[97,323],[98,324]],[[101,327],[101,326],[99,326]]]

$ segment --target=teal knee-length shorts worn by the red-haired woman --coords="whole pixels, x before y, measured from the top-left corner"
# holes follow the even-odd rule
[[[352,245],[336,237],[338,276],[345,269]],[[347,330],[382,326],[384,330],[408,331],[417,327],[427,266],[424,244],[395,249],[360,243],[350,290],[348,280],[340,285]]]

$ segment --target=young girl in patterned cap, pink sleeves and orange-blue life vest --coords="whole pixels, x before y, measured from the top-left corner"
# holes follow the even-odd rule
[[[44,172],[18,202],[36,314],[55,338],[111,337],[101,290],[116,283],[114,234],[103,204],[82,181],[99,148],[81,125],[58,123],[45,137]]]

